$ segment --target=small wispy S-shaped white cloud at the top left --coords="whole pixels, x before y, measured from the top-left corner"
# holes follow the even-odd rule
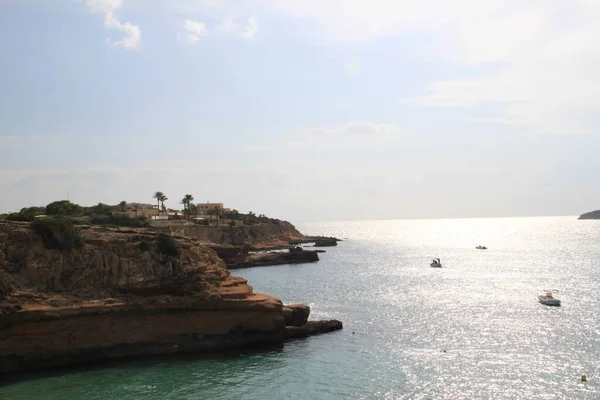
[[[108,39],[108,43],[128,50],[135,49],[139,45],[142,38],[140,27],[130,22],[123,23],[116,15],[116,11],[123,5],[122,0],[87,0],[86,5],[92,12],[104,14],[104,26],[107,29],[124,34],[123,38],[117,41]]]

